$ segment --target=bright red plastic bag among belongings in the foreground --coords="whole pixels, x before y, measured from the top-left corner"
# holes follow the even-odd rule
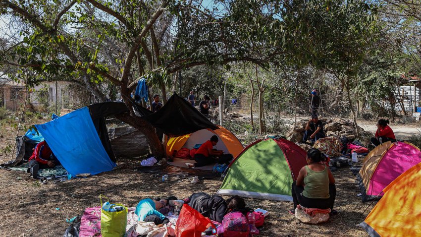
[[[209,218],[204,217],[189,205],[184,204],[175,225],[175,236],[200,237],[202,232],[210,226],[216,229]]]

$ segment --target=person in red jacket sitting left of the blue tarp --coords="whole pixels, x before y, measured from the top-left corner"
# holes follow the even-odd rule
[[[38,143],[32,156],[29,158],[29,169],[32,178],[38,178],[38,170],[54,168],[58,164],[58,160],[46,141]]]

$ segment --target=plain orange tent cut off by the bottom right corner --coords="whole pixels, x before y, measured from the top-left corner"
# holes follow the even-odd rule
[[[384,195],[359,226],[371,237],[421,236],[421,163],[383,189]]]

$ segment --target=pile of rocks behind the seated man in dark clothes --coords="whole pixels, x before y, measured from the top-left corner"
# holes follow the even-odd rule
[[[320,120],[323,122],[324,133],[326,136],[335,136],[338,138],[345,136],[350,140],[357,138],[355,124],[352,120],[345,120],[341,118]],[[297,121],[297,126],[294,126],[293,124],[286,134],[287,139],[292,142],[302,142],[307,122],[308,120],[301,119]],[[360,135],[370,134],[360,126],[358,126],[358,131],[360,132]]]

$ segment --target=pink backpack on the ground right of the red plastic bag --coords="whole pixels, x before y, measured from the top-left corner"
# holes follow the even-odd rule
[[[216,232],[218,237],[248,237],[250,226],[241,212],[230,212],[224,216]]]

